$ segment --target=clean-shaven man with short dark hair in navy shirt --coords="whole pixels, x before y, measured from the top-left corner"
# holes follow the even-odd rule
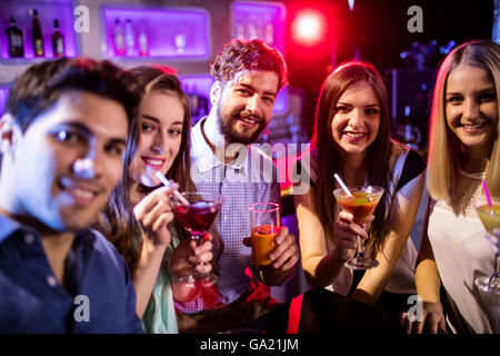
[[[88,229],[123,171],[137,96],[110,62],[58,59],[0,119],[0,333],[140,333],[123,259]]]

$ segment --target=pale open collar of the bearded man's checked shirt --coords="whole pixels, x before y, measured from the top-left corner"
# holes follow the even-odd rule
[[[198,121],[191,130],[191,165],[199,174],[209,171],[219,166],[226,166],[234,170],[239,170],[240,174],[247,176],[248,174],[248,155],[249,149],[240,151],[240,156],[232,160],[230,164],[223,164],[217,158],[210,148],[209,144],[204,139],[202,130],[202,122],[207,117]],[[242,154],[246,155],[242,155]]]

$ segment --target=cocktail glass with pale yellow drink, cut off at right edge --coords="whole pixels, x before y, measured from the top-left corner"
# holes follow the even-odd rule
[[[482,291],[500,295],[500,251],[498,249],[500,244],[500,198],[491,198],[491,202],[492,206],[490,206],[486,199],[480,199],[474,205],[474,208],[487,230],[484,237],[497,247],[494,268],[489,277],[478,277],[474,283]]]

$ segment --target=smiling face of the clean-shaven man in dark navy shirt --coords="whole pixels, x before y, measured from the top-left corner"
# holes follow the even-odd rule
[[[117,101],[83,91],[62,95],[24,134],[14,130],[10,212],[57,231],[87,227],[121,178],[127,130]]]

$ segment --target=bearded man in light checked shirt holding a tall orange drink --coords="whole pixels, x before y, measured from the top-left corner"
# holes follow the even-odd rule
[[[212,109],[191,132],[191,178],[198,190],[216,191],[226,201],[216,218],[214,256],[219,256],[217,287],[227,307],[192,314],[202,327],[210,323],[223,330],[242,326],[270,310],[273,299],[268,286],[281,285],[293,271],[299,249],[293,235],[283,229],[270,253],[272,263],[254,268],[251,249],[243,245],[250,235],[249,206],[258,201],[280,202],[280,186],[272,159],[253,144],[271,120],[279,90],[287,83],[287,67],[279,51],[260,40],[232,41],[212,62],[216,78],[210,92]],[[250,267],[250,268],[249,268]],[[202,309],[178,306],[186,313]]]

